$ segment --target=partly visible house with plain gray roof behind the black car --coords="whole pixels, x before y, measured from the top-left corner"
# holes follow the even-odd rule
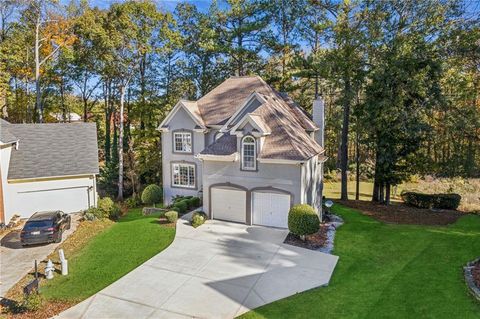
[[[96,206],[95,123],[11,124],[0,119],[0,222],[38,211]]]

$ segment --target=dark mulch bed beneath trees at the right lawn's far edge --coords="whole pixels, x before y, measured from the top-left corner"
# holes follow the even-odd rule
[[[454,210],[430,210],[407,206],[403,203],[391,203],[386,206],[369,201],[338,201],[340,204],[358,209],[364,215],[371,216],[379,221],[392,224],[412,225],[448,225],[464,216]]]

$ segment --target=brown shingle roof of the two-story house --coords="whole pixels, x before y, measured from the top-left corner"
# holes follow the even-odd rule
[[[258,76],[230,78],[198,100],[197,104],[207,125],[225,124],[253,92],[265,102],[250,114],[260,119],[270,131],[258,154],[260,159],[301,161],[323,153],[323,148],[309,134],[317,129],[312,120],[291,98],[279,94]],[[236,137],[224,135],[201,154],[229,155],[236,151]]]

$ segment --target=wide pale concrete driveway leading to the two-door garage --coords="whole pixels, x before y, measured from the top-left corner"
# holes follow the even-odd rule
[[[338,260],[283,244],[286,230],[187,218],[166,250],[59,317],[233,318],[327,285]]]

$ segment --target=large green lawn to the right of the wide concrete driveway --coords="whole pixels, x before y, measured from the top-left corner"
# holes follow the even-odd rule
[[[387,225],[340,205],[340,256],[328,287],[243,318],[480,318],[462,267],[480,254],[480,216],[447,227]]]

